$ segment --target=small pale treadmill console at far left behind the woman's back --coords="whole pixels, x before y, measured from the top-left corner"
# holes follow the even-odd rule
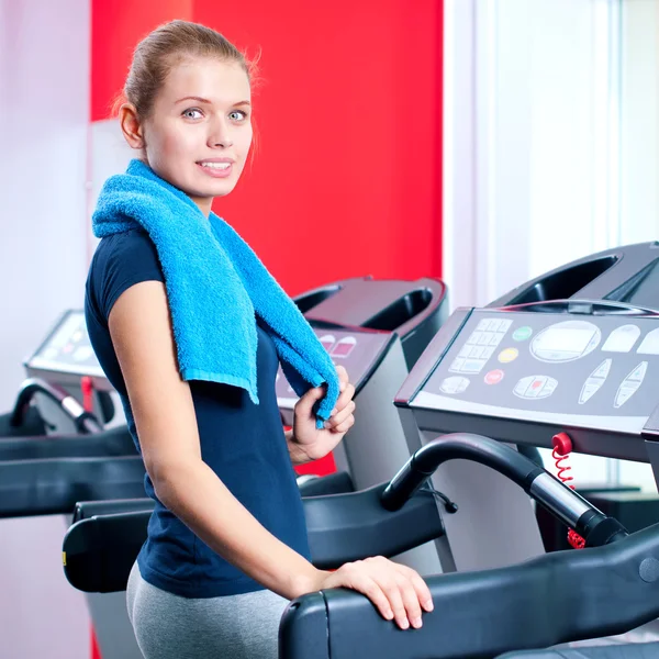
[[[25,362],[31,376],[71,373],[105,378],[87,334],[85,313],[69,310],[57,321],[46,339]]]

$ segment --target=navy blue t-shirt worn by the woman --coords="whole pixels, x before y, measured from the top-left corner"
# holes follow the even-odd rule
[[[141,281],[165,281],[154,244],[133,230],[102,238],[87,279],[85,316],[91,345],[111,384],[121,395],[137,450],[139,439],[121,368],[108,328],[114,302]],[[256,321],[255,321],[256,322]],[[190,389],[203,461],[241,503],[276,537],[310,558],[300,491],[281,426],[275,380],[279,366],[270,337],[257,323],[259,404],[236,387],[191,381]],[[157,499],[148,538],[137,558],[142,577],[183,597],[214,597],[260,590],[200,540]]]

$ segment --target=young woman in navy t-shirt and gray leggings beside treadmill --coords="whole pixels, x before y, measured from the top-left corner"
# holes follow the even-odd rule
[[[90,266],[86,315],[156,502],[127,589],[139,648],[146,659],[275,658],[288,600],[335,587],[366,594],[403,629],[420,627],[432,601],[412,569],[382,557],[334,572],[310,562],[292,465],[317,459],[340,442],[354,423],[355,389],[345,369],[335,372],[330,361],[327,387],[301,395],[293,429],[283,433],[275,394],[279,337],[258,313],[268,302],[257,300],[257,286],[249,288],[244,264],[225,269],[227,301],[216,302],[224,281],[211,281],[220,292],[200,313],[212,309],[226,327],[206,333],[202,346],[231,361],[242,337],[254,333],[254,390],[237,376],[212,378],[186,367],[186,332],[198,328],[181,330],[186,304],[199,308],[206,291],[179,290],[180,282],[203,275],[205,264],[215,267],[217,246],[206,245],[211,234],[203,232],[222,222],[211,213],[212,201],[233,190],[250,148],[250,66],[217,32],[174,21],[137,45],[124,97],[120,124],[137,158],[112,179],[115,188],[126,181],[133,188],[121,198],[124,205],[112,205],[111,186],[99,199],[94,231],[103,237]],[[131,209],[142,209],[146,219],[134,223]],[[167,232],[175,242],[161,247]],[[168,249],[179,248],[188,252],[168,260]],[[230,289],[230,280],[242,282],[241,290]],[[244,316],[249,326],[232,335],[234,322],[244,320],[232,295],[238,300],[245,291],[254,302]],[[314,353],[313,334],[304,336],[301,350]],[[336,402],[330,402],[325,423],[316,424],[337,376]]]

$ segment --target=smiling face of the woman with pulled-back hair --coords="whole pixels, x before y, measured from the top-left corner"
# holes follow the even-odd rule
[[[245,166],[250,100],[239,65],[188,58],[170,70],[142,126],[148,165],[206,215],[213,198],[228,194]]]

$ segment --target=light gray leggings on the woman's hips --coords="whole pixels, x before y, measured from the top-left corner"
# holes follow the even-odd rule
[[[145,659],[277,659],[288,600],[271,591],[188,599],[144,581],[137,563],[126,592]]]

